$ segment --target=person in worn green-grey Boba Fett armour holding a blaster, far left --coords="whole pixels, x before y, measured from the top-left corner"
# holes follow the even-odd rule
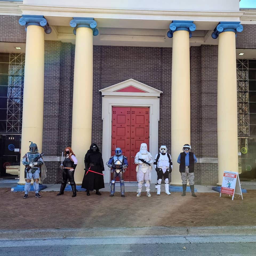
[[[43,173],[41,174],[41,180],[46,178],[46,168],[44,166],[43,159],[41,154],[38,152],[37,144],[31,141],[29,146],[29,152],[27,152],[24,157],[22,158],[22,164],[25,165],[25,195],[23,198],[28,198],[28,193],[30,190],[30,182],[33,179],[34,181],[34,190],[35,190],[35,197],[41,197],[39,195],[39,176],[41,169],[43,169]],[[42,168],[43,167],[43,168]]]

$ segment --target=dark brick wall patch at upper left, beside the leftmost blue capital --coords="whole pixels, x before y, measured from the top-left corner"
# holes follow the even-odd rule
[[[25,26],[19,25],[21,16],[0,15],[0,42],[26,43]]]

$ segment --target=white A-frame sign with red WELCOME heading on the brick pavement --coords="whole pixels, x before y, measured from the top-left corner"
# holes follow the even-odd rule
[[[232,195],[232,200],[234,199],[234,194],[242,195],[239,175],[233,171],[224,171],[222,185],[221,185],[221,193]],[[219,195],[221,197],[221,194]]]

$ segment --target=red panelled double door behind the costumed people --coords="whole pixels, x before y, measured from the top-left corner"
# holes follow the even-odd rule
[[[149,150],[149,107],[112,107],[111,155],[121,147],[128,159],[125,181],[136,181],[136,165],[133,164],[141,143]]]

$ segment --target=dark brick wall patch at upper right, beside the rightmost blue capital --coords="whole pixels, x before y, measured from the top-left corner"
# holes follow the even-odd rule
[[[256,49],[256,25],[242,24],[243,31],[237,33],[236,47],[242,49]]]

